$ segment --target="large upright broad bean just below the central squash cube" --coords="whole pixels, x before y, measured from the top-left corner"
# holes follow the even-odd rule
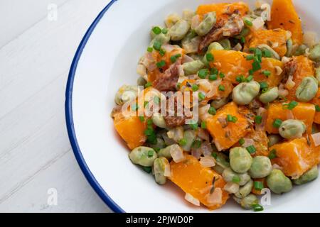
[[[252,157],[245,148],[232,148],[229,153],[230,167],[238,173],[245,173],[250,169]]]

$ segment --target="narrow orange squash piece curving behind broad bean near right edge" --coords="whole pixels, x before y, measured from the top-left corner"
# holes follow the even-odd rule
[[[309,77],[314,75],[314,64],[308,57],[305,56],[297,56],[292,58],[292,67],[295,67],[293,75],[293,82],[295,83],[292,89],[289,89],[289,94],[287,95],[288,100],[296,100],[296,92],[297,88],[302,82],[304,77]]]

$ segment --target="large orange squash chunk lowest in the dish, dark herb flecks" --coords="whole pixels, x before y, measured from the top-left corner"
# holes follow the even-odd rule
[[[203,167],[196,157],[186,155],[186,160],[178,163],[171,162],[170,165],[171,181],[178,185],[183,192],[198,199],[208,209],[218,209],[228,200],[229,195],[223,190],[225,186],[223,177],[210,168]],[[213,203],[210,201],[210,195],[217,188],[222,191],[222,199],[218,203]]]

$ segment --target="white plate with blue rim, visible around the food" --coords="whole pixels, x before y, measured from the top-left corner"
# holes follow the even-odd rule
[[[229,0],[228,0],[229,1]],[[122,84],[136,84],[137,61],[149,43],[151,26],[169,13],[196,9],[215,0],[112,1],[92,23],[75,54],[66,91],[68,133],[79,165],[97,194],[117,212],[207,212],[189,205],[172,184],[154,182],[128,158],[110,112]],[[253,3],[253,1],[246,1]],[[306,30],[320,31],[317,0],[295,0]],[[320,180],[272,195],[265,211],[320,211]],[[233,202],[214,212],[243,212]]]

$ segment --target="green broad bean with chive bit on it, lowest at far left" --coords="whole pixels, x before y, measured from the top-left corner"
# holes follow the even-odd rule
[[[156,157],[158,157],[156,151],[148,147],[134,148],[134,150],[129,153],[129,158],[134,164],[142,165],[144,167],[151,167],[154,165]]]

